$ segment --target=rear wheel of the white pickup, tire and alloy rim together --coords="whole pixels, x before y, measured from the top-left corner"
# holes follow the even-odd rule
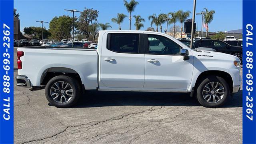
[[[45,87],[45,96],[52,106],[68,108],[76,104],[81,95],[78,80],[69,76],[55,76]]]

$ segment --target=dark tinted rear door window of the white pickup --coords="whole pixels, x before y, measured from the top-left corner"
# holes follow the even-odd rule
[[[139,34],[110,34],[109,50],[123,53],[139,52]]]

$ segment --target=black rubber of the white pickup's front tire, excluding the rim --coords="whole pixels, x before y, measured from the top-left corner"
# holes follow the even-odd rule
[[[206,86],[206,84],[208,84],[209,82],[219,82],[220,84],[222,84],[222,86],[224,86],[224,96],[222,98],[222,100],[220,100],[219,102],[212,104],[207,102],[206,100],[204,100],[203,98],[203,94],[202,91],[204,89],[204,86]],[[196,99],[198,100],[198,102],[205,107],[208,108],[216,108],[218,106],[223,105],[230,97],[230,88],[228,86],[228,83],[226,82],[226,80],[224,80],[224,78],[221,78],[219,76],[207,76],[206,78],[202,78],[200,84],[198,85],[197,91],[196,91]]]

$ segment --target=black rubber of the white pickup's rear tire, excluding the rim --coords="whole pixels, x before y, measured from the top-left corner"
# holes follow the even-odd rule
[[[68,102],[62,103],[62,104],[55,102],[53,100],[52,96],[50,96],[50,89],[51,89],[52,85],[58,81],[67,82],[68,84],[70,84],[70,86],[73,89],[73,96],[72,96],[71,100]],[[52,104],[52,106],[56,106],[58,108],[67,108],[67,107],[73,106],[78,101],[80,94],[81,94],[81,89],[80,89],[80,86],[78,85],[78,81],[69,76],[55,76],[49,80],[49,82],[46,84],[46,87],[45,87],[45,96],[46,96],[48,102],[50,102],[50,104]]]

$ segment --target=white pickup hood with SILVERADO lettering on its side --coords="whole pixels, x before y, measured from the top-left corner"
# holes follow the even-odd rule
[[[222,52],[214,52],[214,51],[207,51],[207,50],[191,50],[193,55],[200,59],[209,59],[209,60],[216,60],[216,61],[235,61],[239,60],[238,57],[233,56],[231,54],[225,54]],[[240,60],[239,60],[240,61]]]

